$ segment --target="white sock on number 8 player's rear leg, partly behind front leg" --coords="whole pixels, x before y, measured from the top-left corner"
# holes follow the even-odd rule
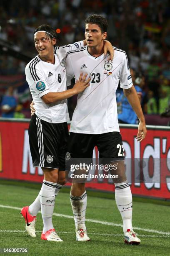
[[[60,189],[62,189],[63,185],[60,185],[57,183],[57,187],[55,189],[55,196],[58,195],[60,192]],[[37,213],[41,210],[41,204],[40,204],[40,193],[37,195],[35,201],[29,206],[28,211],[30,215],[37,216]]]

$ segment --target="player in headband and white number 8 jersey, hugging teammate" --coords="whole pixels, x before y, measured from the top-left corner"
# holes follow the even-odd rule
[[[52,224],[55,196],[65,184],[65,152],[67,151],[67,98],[85,90],[90,78],[82,73],[75,86],[66,90],[65,57],[68,51],[82,47],[83,41],[55,47],[57,34],[48,25],[35,29],[34,43],[38,55],[26,66],[26,80],[35,103],[35,115],[29,126],[30,151],[33,166],[40,166],[44,180],[39,195],[30,205],[23,207],[28,234],[35,237],[35,221],[41,209],[43,219],[42,240],[62,241]],[[86,43],[84,41],[84,43]],[[113,51],[112,51],[113,53]],[[85,81],[86,79],[86,81]]]

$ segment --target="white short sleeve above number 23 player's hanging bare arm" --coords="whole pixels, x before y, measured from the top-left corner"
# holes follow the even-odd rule
[[[133,86],[133,82],[130,74],[128,58],[126,56],[126,53],[123,52],[122,69],[120,72],[120,87],[123,89],[128,89],[132,86]]]

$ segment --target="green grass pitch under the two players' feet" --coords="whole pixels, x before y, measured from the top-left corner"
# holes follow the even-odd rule
[[[0,185],[0,248],[28,248],[28,253],[12,254],[34,256],[170,255],[169,203],[161,205],[161,202],[153,203],[154,200],[134,200],[133,227],[136,227],[134,230],[139,234],[141,244],[130,246],[123,241],[122,220],[114,195],[110,195],[110,199],[94,197],[87,191],[86,227],[91,241],[77,242],[69,192],[60,192],[55,201],[53,224],[64,242],[56,243],[40,239],[40,213],[37,214],[37,237],[31,238],[24,232],[25,221],[18,208],[30,205],[38,192],[37,188]]]

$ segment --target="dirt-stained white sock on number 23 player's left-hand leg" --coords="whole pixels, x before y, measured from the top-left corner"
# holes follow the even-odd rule
[[[86,191],[80,196],[75,197],[70,193],[70,202],[75,220],[75,232],[80,230],[86,230],[85,227],[85,210],[87,207],[87,194]]]

